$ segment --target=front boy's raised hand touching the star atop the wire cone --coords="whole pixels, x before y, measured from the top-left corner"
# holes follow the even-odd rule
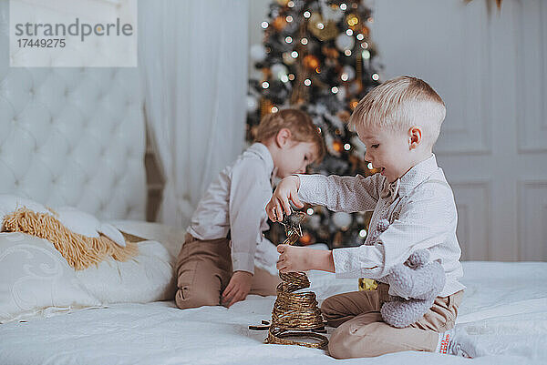
[[[272,219],[273,222],[280,222],[283,220],[283,212],[287,216],[290,216],[291,205],[289,204],[289,199],[291,199],[297,208],[304,207],[304,204],[298,198],[298,188],[300,188],[300,177],[290,176],[281,180],[277,188],[275,188],[270,202],[266,205],[268,218]]]

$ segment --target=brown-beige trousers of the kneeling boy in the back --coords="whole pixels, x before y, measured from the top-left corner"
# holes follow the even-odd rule
[[[232,278],[228,238],[201,240],[187,234],[177,258],[178,287],[175,301],[181,309],[221,304],[222,291]],[[279,276],[254,268],[249,294],[275,295]]]

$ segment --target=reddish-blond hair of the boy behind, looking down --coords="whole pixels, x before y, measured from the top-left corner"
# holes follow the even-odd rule
[[[312,118],[307,113],[298,109],[282,109],[264,116],[256,129],[254,140],[256,142],[265,142],[277,136],[277,133],[283,128],[291,131],[291,139],[294,141],[315,144],[316,162],[325,157],[325,143],[319,129],[315,127]]]

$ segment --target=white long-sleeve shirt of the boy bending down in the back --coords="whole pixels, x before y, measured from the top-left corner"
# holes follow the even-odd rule
[[[278,259],[265,207],[272,198],[274,160],[262,143],[254,143],[225,167],[207,189],[187,229],[199,239],[232,239],[232,269],[254,273],[256,263],[271,269]]]

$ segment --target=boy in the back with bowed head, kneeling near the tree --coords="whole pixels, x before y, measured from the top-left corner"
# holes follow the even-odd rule
[[[265,268],[274,267],[278,254],[263,237],[272,177],[304,173],[324,154],[323,139],[304,112],[263,117],[256,143],[222,170],[192,215],[176,266],[179,308],[230,307],[247,294],[275,294],[279,276]]]

